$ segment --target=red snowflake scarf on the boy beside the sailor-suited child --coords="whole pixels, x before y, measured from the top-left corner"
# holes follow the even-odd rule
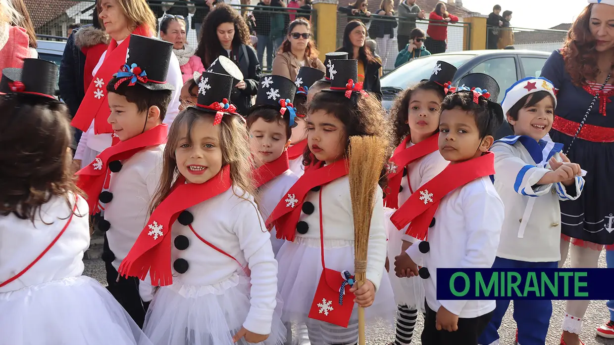
[[[406,233],[418,240],[425,240],[443,197],[477,178],[494,173],[495,155],[492,152],[465,162],[449,164],[443,172],[411,194],[410,199],[392,214],[390,220],[399,230],[411,222]]]

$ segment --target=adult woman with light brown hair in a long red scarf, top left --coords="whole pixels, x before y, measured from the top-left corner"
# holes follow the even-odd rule
[[[157,19],[146,0],[100,0],[97,6],[98,18],[111,36],[111,42],[92,72],[94,78],[71,123],[84,132],[75,153],[81,167],[90,164],[99,153],[112,145],[112,128],[107,122],[111,110],[105,86],[126,63],[126,56],[130,54],[130,35],[154,37],[157,32]],[[174,54],[171,55],[166,80],[175,85],[164,118],[164,123],[171,124],[179,113],[179,89],[183,85],[179,61]]]

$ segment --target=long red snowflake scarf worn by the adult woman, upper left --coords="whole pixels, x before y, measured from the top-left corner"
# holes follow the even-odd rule
[[[152,37],[146,26],[139,26],[134,29],[132,34]],[[117,45],[116,40],[111,39],[111,43],[107,47],[107,53],[104,56],[104,62],[92,79],[85,97],[79,106],[79,110],[77,110],[75,117],[72,119],[71,124],[73,127],[87,132],[93,120],[95,134],[113,132],[111,124],[107,122],[111,110],[109,109],[109,102],[107,102],[106,86],[111,78],[113,78],[113,75],[126,63],[126,53],[129,45],[130,35],[120,45]]]

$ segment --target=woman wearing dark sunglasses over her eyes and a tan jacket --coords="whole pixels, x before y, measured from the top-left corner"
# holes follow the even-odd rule
[[[313,67],[326,72],[324,64],[317,56],[316,43],[311,36],[311,27],[304,18],[293,20],[288,26],[288,36],[273,60],[273,74],[282,75],[294,81],[298,70]]]

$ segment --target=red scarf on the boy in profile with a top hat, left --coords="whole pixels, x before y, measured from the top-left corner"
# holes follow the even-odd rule
[[[90,206],[90,214],[98,213],[98,195],[103,188],[109,188],[111,171],[109,162],[122,161],[134,154],[144,150],[149,146],[156,146],[166,143],[168,126],[159,124],[149,131],[145,131],[136,137],[132,137],[125,142],[119,142],[102,151],[93,162],[77,172],[79,180],[77,187],[87,195],[87,203]]]

